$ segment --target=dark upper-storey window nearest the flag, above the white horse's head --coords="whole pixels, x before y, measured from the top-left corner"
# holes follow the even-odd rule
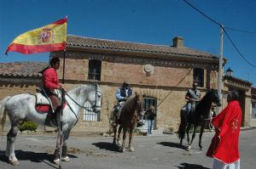
[[[88,79],[101,81],[101,72],[102,72],[102,61],[96,60],[96,59],[90,59]]]

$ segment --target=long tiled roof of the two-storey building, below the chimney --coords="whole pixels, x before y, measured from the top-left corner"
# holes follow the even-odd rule
[[[164,45],[153,45],[137,42],[122,42],[107,39],[96,39],[91,37],[79,37],[74,35],[67,36],[67,45],[70,47],[73,46],[80,48],[106,48],[117,51],[132,51],[151,54],[170,54],[202,59],[218,59],[218,56],[214,54],[208,54],[206,52],[202,52],[193,48],[176,48]]]

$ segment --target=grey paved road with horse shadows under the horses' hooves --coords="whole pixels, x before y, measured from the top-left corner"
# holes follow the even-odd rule
[[[113,146],[112,138],[70,138],[68,153],[71,162],[62,162],[63,169],[208,169],[212,159],[205,156],[212,132],[203,135],[205,149],[198,149],[198,136],[191,152],[179,146],[176,135],[137,136],[135,152],[121,153]],[[52,163],[55,137],[20,136],[16,140],[16,156],[20,166],[11,166],[4,158],[5,137],[0,137],[0,168],[49,169],[58,168]],[[256,166],[256,130],[241,132],[241,168]]]

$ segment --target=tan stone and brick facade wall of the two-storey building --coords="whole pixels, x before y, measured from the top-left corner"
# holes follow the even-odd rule
[[[61,54],[55,53],[56,56]],[[77,83],[88,83],[89,59],[102,60],[102,76],[98,82],[102,88],[103,103],[100,121],[83,121],[80,115],[79,122],[74,130],[89,130],[106,132],[109,130],[109,115],[116,103],[115,92],[122,82],[131,84],[133,91],[157,99],[156,127],[168,130],[170,127],[177,130],[179,125],[179,111],[185,104],[185,93],[193,82],[193,65],[177,61],[129,56],[90,53],[67,53],[65,79],[67,89]],[[145,65],[151,65],[151,71],[145,71]],[[190,66],[190,67],[189,67]],[[218,72],[212,65],[195,64],[195,67],[205,69],[205,87],[217,88]],[[62,70],[62,68],[60,68]],[[61,71],[60,71],[61,76]],[[205,91],[206,88],[201,88]],[[202,93],[204,94],[204,93]]]

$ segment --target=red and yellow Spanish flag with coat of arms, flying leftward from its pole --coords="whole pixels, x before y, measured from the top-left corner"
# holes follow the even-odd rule
[[[67,18],[32,31],[26,31],[11,42],[5,54],[9,51],[21,54],[60,51],[66,48],[66,42]]]

